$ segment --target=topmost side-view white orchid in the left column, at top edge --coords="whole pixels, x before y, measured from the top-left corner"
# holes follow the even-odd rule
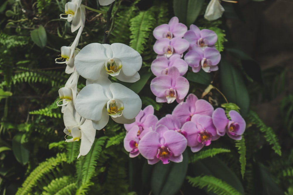
[[[63,15],[67,15],[67,17]],[[65,14],[60,14],[60,18],[72,22],[71,32],[75,32],[79,27],[84,27],[86,8],[81,5],[81,0],[72,0],[65,4]]]

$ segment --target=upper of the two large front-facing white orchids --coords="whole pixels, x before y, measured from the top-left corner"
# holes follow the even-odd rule
[[[140,79],[142,57],[130,46],[122,43],[91,43],[85,46],[74,59],[77,72],[86,79],[97,80],[109,74],[123,82]]]

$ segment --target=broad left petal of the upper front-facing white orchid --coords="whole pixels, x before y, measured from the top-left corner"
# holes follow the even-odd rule
[[[79,51],[74,59],[77,72],[86,79],[97,80],[105,69],[108,59],[105,47],[100,43],[91,43]]]

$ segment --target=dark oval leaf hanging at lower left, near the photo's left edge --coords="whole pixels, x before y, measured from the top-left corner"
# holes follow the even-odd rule
[[[12,139],[12,151],[16,160],[25,165],[28,163],[29,151],[23,147],[23,139],[25,134],[16,134]]]

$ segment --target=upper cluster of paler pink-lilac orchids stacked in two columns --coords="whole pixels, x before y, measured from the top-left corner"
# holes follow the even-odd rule
[[[153,34],[157,39],[154,51],[158,56],[151,64],[151,71],[156,75],[151,81],[151,91],[157,102],[182,103],[189,90],[189,82],[183,77],[188,66],[195,73],[201,68],[205,72],[218,70],[221,55],[214,46],[217,34],[208,29],[200,30],[193,24],[187,30],[177,17],[156,27]]]

